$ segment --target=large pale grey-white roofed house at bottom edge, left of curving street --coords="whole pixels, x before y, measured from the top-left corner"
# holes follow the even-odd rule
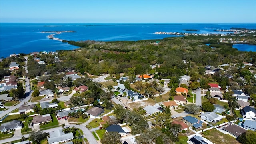
[[[65,134],[62,129],[49,132],[49,137],[47,137],[49,144],[59,144],[62,142],[68,142],[74,139],[73,133]]]

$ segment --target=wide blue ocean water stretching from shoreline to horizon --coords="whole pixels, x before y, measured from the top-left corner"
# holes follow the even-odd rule
[[[55,36],[64,40],[137,41],[173,37],[172,35],[157,35],[154,32],[189,32],[182,29],[198,29],[197,33],[227,33],[214,30],[231,27],[256,29],[256,24],[0,23],[0,57],[7,57],[13,53],[28,54],[34,51],[50,52],[78,48],[60,41],[49,40],[47,38],[49,33],[40,33],[42,31],[76,31]]]

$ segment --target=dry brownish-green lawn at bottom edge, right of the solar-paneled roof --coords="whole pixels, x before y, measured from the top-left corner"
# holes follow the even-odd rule
[[[207,134],[202,134],[202,136],[204,136],[205,138],[207,138],[208,140],[215,144],[240,144],[232,136],[228,134],[223,134],[222,132],[216,130],[215,128],[207,130]]]

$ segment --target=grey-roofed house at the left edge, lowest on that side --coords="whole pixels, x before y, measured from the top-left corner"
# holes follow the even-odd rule
[[[20,130],[23,124],[20,120],[13,120],[10,122],[2,123],[0,132],[7,132],[8,130]]]

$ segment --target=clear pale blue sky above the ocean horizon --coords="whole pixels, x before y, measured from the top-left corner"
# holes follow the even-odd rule
[[[255,23],[256,0],[0,0],[0,22]]]

